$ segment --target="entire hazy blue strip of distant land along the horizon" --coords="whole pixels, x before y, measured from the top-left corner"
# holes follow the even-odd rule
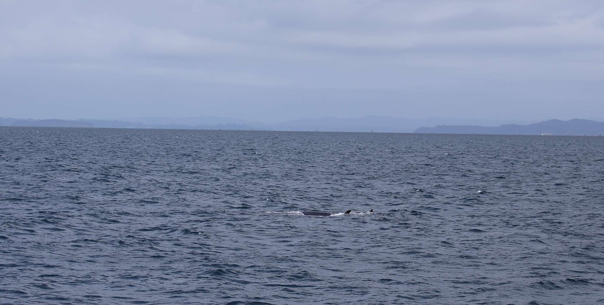
[[[510,124],[513,122],[513,124]],[[223,130],[283,130],[327,132],[402,132],[402,133],[469,133],[492,135],[604,135],[604,122],[573,119],[548,120],[532,124],[495,126],[495,120],[457,118],[393,118],[367,116],[361,118],[323,117],[298,119],[279,123],[261,123],[222,117],[189,118],[131,118],[126,120],[33,120],[0,117],[0,126],[30,127],[97,127],[154,129],[223,129]],[[440,123],[440,124],[439,124]],[[530,122],[528,122],[530,123]],[[438,126],[435,126],[439,124]],[[484,126],[490,124],[492,126]],[[434,126],[434,127],[420,127]]]

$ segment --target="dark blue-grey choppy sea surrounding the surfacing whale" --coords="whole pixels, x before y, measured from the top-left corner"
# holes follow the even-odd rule
[[[0,127],[0,303],[600,304],[603,187],[601,137]]]

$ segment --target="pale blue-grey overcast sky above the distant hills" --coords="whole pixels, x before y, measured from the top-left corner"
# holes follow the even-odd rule
[[[604,1],[0,0],[0,117],[604,117]]]

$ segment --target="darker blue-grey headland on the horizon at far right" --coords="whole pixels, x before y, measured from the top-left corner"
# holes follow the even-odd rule
[[[478,133],[490,135],[604,135],[604,122],[591,120],[548,120],[540,123],[518,125],[504,124],[498,127],[470,125],[439,125],[420,127],[417,133]]]

